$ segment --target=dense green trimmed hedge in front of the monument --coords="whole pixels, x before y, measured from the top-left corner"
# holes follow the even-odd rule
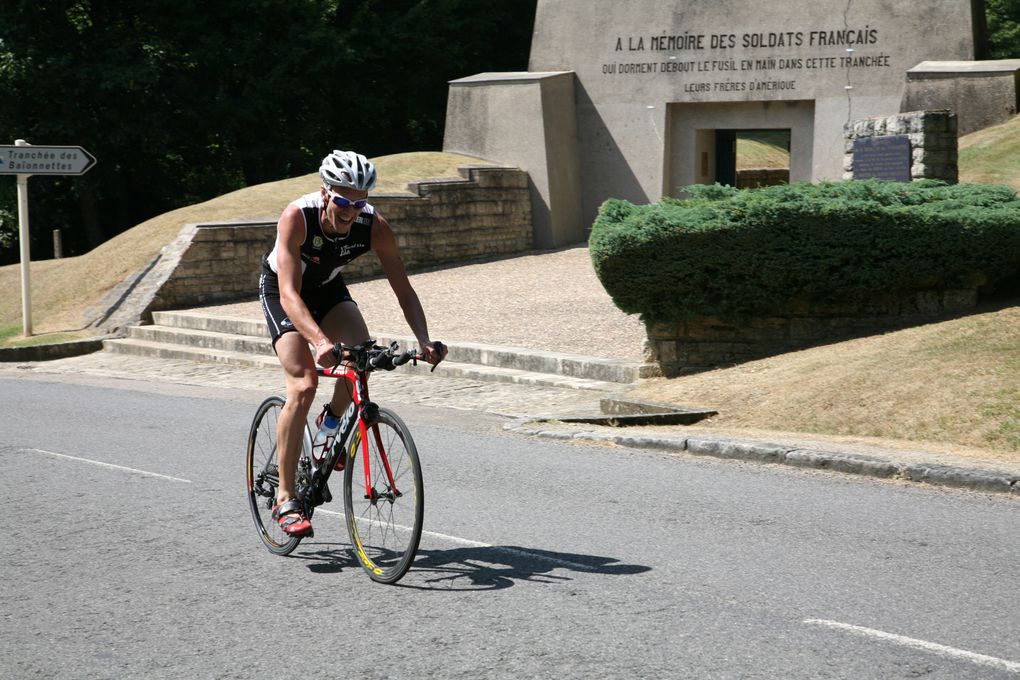
[[[592,229],[603,286],[646,322],[1017,282],[1020,200],[1009,187],[866,179],[684,191],[690,199],[643,206],[610,199]]]

